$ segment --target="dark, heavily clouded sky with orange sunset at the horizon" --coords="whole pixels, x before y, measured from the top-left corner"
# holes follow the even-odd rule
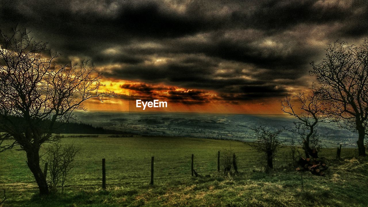
[[[63,54],[90,60],[119,97],[89,110],[282,113],[308,91],[310,62],[328,44],[368,38],[368,2],[350,0],[0,0],[0,29],[18,27]]]

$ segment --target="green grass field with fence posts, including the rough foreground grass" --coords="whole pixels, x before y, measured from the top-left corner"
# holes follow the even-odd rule
[[[64,193],[39,197],[25,163],[25,152],[0,153],[0,189],[4,207],[21,206],[368,206],[368,162],[343,149],[344,161],[334,161],[336,150],[320,152],[329,165],[327,175],[301,174],[284,161],[280,150],[275,170],[265,173],[262,155],[238,141],[178,137],[65,137],[82,150]],[[240,173],[217,172],[217,151],[238,155]],[[191,177],[194,169],[201,177]],[[151,157],[155,184],[149,185]],[[106,158],[107,190],[102,190],[101,159]],[[0,199],[1,200],[1,199]]]

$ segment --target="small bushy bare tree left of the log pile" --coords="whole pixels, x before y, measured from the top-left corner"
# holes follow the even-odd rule
[[[279,134],[286,129],[271,131],[266,127],[259,126],[257,128],[252,128],[252,130],[254,130],[257,139],[251,146],[259,152],[265,153],[267,168],[273,169],[273,158],[275,158],[280,145],[283,144],[283,141],[279,140]]]

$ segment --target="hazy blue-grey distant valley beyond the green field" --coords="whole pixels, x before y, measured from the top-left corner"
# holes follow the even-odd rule
[[[95,127],[123,131],[145,136],[198,137],[251,142],[256,139],[251,128],[269,126],[275,130],[285,126],[293,127],[295,119],[287,115],[242,115],[211,113],[169,113],[169,112],[79,112],[82,123]],[[321,123],[318,134],[323,147],[356,147],[356,134],[339,129],[336,123]],[[298,138],[294,133],[285,131],[280,138]],[[300,143],[296,143],[300,145]]]

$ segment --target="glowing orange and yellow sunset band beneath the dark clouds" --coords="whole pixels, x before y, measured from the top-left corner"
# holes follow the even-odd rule
[[[198,112],[198,113],[248,113],[280,114],[280,98],[263,98],[252,101],[228,101],[218,92],[187,89],[164,84],[147,84],[135,81],[105,79],[102,90],[115,91],[119,97],[103,97],[103,102],[90,99],[86,108],[92,111],[131,111],[131,112]],[[305,89],[307,90],[307,89]],[[167,102],[167,108],[136,108],[137,99]]]

